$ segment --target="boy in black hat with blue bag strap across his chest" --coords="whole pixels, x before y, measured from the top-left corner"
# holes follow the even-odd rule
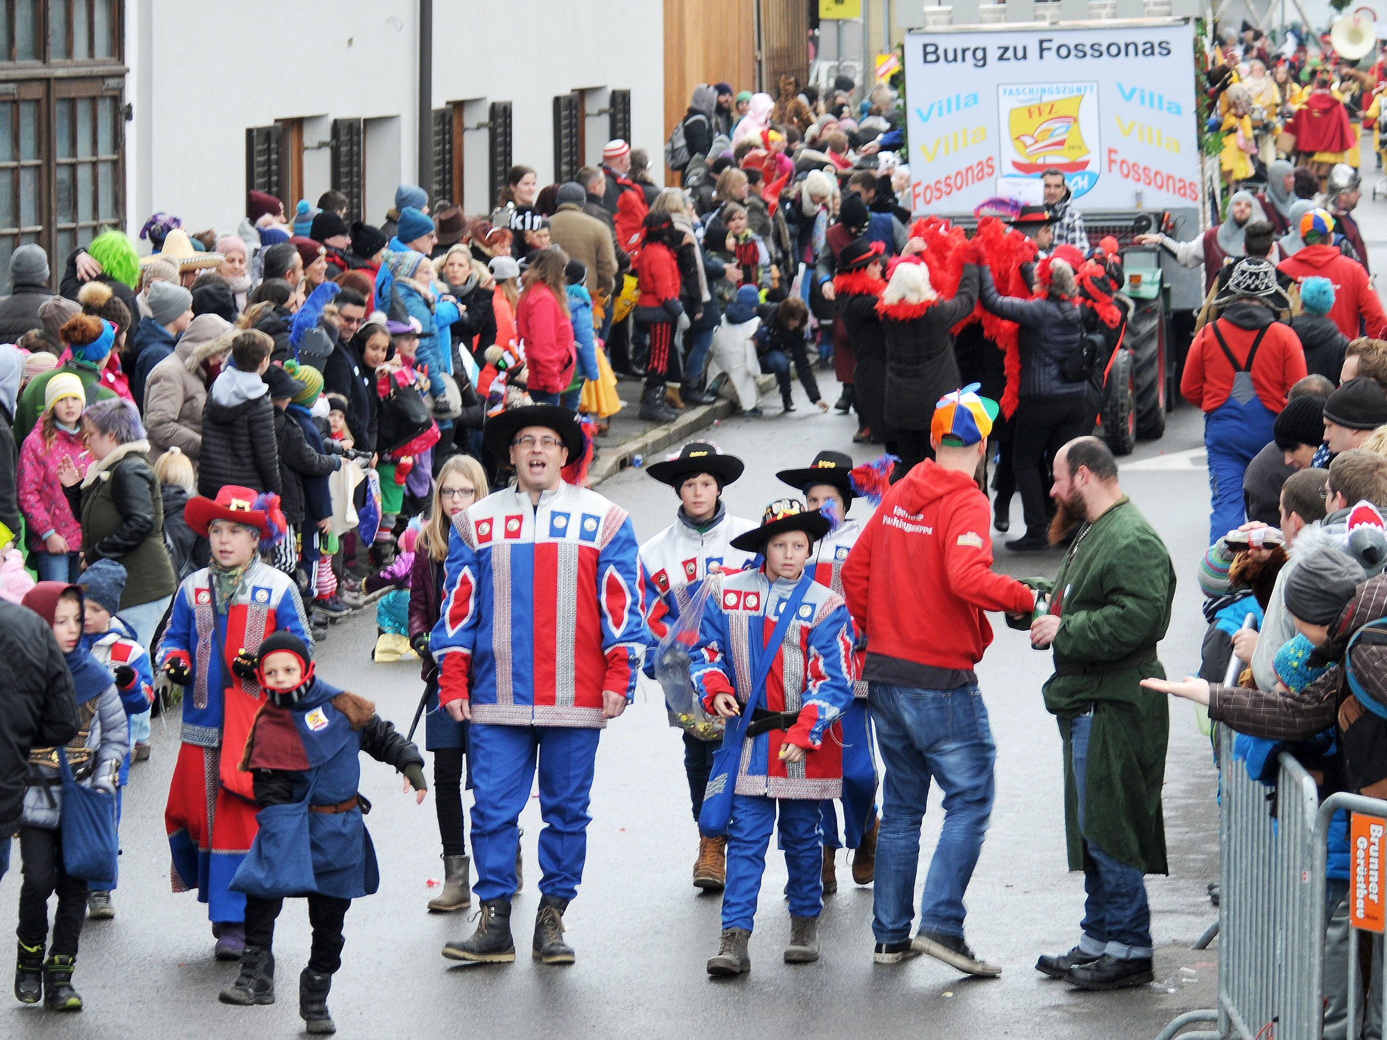
[[[785,961],[818,960],[818,914],[824,905],[818,803],[842,795],[842,732],[836,720],[853,702],[856,678],[847,606],[828,587],[802,581],[811,546],[825,534],[828,520],[803,502],[773,502],[760,527],[731,542],[743,552],[761,553],[763,567],[710,578],[716,584],[694,648],[691,678],[703,710],[723,718],[739,716],[757,693],[752,689],[750,641],[764,646],[779,612],[796,595],[802,600],[775,648],[764,693],[755,696],[732,781],[723,937],[717,955],[707,962],[709,975],[739,975],[752,967],[746,946],[777,815],[789,869],[791,942]],[[714,782],[709,783],[709,797]]]

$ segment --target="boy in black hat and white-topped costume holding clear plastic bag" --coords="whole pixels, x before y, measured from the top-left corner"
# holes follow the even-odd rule
[[[742,476],[742,460],[724,455],[717,445],[691,441],[678,455],[656,462],[646,473],[678,492],[680,509],[674,523],[641,546],[641,571],[645,575],[645,623],[656,639],[663,639],[680,618],[703,580],[721,571],[745,569],[755,552],[734,549],[731,539],[756,530],[756,524],[730,516],[723,506],[723,488]],[[645,674],[655,674],[655,653],[645,657]],[[680,725],[670,716],[670,725]],[[682,728],[682,727],[681,727]],[[684,771],[689,778],[694,820],[698,821],[707,786],[713,753],[723,739],[721,729],[700,736],[684,732]],[[727,839],[699,835],[694,886],[720,892],[727,879]]]

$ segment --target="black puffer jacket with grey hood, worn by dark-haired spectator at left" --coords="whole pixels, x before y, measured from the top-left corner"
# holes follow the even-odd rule
[[[275,406],[269,401],[269,390],[257,397],[219,390],[227,376],[250,384],[250,377],[234,369],[222,372],[212,383],[203,408],[197,494],[216,498],[216,492],[227,484],[283,494],[279,483],[279,451],[275,447]]]

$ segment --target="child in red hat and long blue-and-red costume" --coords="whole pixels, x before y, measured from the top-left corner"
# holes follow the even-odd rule
[[[234,961],[245,946],[245,897],[227,886],[255,838],[251,778],[237,763],[265,697],[254,678],[233,674],[230,664],[243,649],[255,653],[272,632],[308,639],[308,620],[294,580],[258,555],[284,537],[279,495],[229,484],[215,502],[189,499],[183,517],[209,541],[212,557],[179,587],[158,649],[162,671],[184,688],[183,745],[164,825],[175,892],[197,890],[212,919],[218,960]]]

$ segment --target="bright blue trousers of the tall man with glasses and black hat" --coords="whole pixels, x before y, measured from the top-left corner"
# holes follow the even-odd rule
[[[516,892],[520,811],[540,774],[540,892],[573,899],[588,854],[589,795],[601,729],[487,725],[473,722],[467,759],[472,857],[477,899],[510,899]]]

